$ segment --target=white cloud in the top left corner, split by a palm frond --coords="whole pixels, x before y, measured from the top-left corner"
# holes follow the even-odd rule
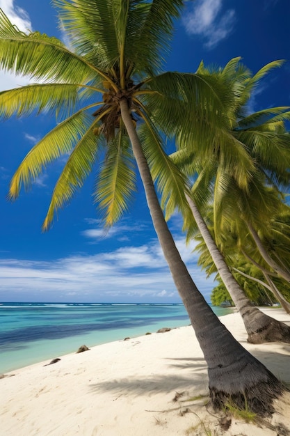
[[[19,30],[26,32],[32,29],[28,13],[16,6],[13,0],[0,0],[0,8]],[[1,91],[5,91],[29,84],[29,77],[20,77],[10,72],[0,71],[0,84]]]

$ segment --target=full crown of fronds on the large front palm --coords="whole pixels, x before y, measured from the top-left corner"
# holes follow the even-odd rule
[[[70,201],[97,160],[103,158],[93,196],[104,210],[106,225],[118,220],[136,189],[134,157],[120,116],[120,101],[126,100],[132,123],[143,121],[144,153],[154,180],[166,193],[168,215],[176,205],[184,208],[179,188],[182,176],[164,152],[159,132],[174,134],[174,119],[180,132],[198,124],[202,134],[202,125],[205,130],[211,119],[218,120],[220,99],[211,92],[210,78],[157,75],[183,2],[94,0],[89,7],[86,0],[52,3],[70,50],[56,38],[19,31],[1,12],[1,67],[39,83],[0,93],[0,115],[53,111],[58,116],[56,127],[17,169],[10,198],[17,198],[22,184],[29,186],[49,162],[67,156],[43,224],[47,229],[56,210]],[[192,93],[188,93],[190,89]]]

